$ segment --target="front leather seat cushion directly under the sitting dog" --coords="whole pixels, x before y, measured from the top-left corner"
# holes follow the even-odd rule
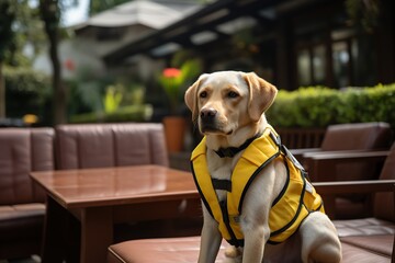
[[[387,263],[392,251],[391,239],[391,235],[341,239],[342,262]],[[387,244],[386,248],[377,249],[382,241]],[[227,245],[223,242],[216,263],[225,262],[224,250]],[[199,249],[200,237],[125,241],[109,248],[108,263],[195,263]]]

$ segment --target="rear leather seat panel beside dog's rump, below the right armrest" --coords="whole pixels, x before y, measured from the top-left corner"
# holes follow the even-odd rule
[[[340,238],[395,233],[395,227],[392,222],[377,218],[334,220],[334,224]]]

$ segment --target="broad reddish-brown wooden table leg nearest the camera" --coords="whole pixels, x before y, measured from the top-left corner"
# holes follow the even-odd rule
[[[81,263],[105,263],[113,242],[111,207],[88,207],[81,214]]]

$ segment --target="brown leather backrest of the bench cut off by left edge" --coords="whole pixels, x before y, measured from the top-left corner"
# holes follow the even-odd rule
[[[0,205],[43,202],[31,171],[54,170],[53,128],[0,128]]]

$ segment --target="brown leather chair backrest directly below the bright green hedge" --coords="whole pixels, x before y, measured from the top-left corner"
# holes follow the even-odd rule
[[[324,151],[388,149],[392,130],[387,123],[337,124],[327,128]]]

